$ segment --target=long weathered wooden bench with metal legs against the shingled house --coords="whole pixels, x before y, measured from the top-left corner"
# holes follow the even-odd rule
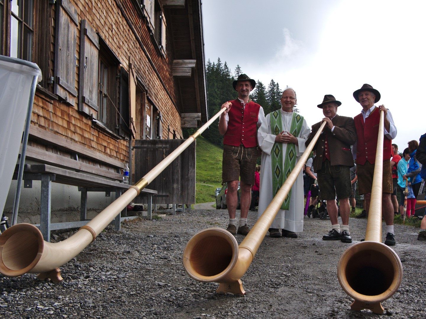
[[[115,198],[130,188],[130,185],[124,184],[121,169],[124,163],[107,157],[98,152],[89,150],[82,145],[67,140],[56,134],[52,134],[33,125],[29,132],[30,140],[46,145],[46,148],[52,148],[53,151],[27,146],[26,159],[46,163],[46,164],[26,164],[24,167],[24,188],[32,188],[33,180],[41,181],[41,200],[40,200],[40,228],[46,241],[50,241],[50,231],[66,228],[79,228],[86,225],[87,220],[87,192],[105,192],[109,197],[111,192],[115,193]],[[73,157],[73,158],[71,158]],[[83,162],[81,159],[86,159]],[[93,164],[92,164],[93,163]],[[16,174],[14,178],[17,178]],[[51,223],[51,202],[52,202],[52,182],[78,186],[81,192],[80,221]],[[147,197],[148,218],[152,214],[152,196],[157,191],[143,189],[141,191]],[[120,230],[121,220],[125,219],[126,208],[117,215],[115,229]]]

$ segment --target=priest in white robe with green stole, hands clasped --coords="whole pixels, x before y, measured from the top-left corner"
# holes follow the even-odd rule
[[[268,114],[257,133],[259,147],[262,149],[258,218],[275,196],[276,192],[273,188],[277,189],[277,183],[278,188],[282,185],[279,182],[280,179],[273,176],[273,167],[274,171],[277,172],[292,169],[306,149],[305,141],[308,139],[311,129],[300,114],[293,112],[295,104],[296,92],[292,88],[285,89],[281,97],[282,108]],[[271,117],[273,117],[272,125],[274,128],[271,127]],[[290,132],[293,132],[296,136]],[[296,156],[294,156],[292,150],[295,151]],[[292,161],[289,159],[292,159]],[[289,163],[291,164],[289,165]],[[276,169],[277,165],[278,170]],[[271,237],[297,238],[296,232],[303,231],[302,171],[297,176],[289,196],[290,198],[283,203],[283,207],[286,205],[284,208],[288,209],[280,209],[269,228],[269,236]],[[280,229],[282,234],[279,231]]]

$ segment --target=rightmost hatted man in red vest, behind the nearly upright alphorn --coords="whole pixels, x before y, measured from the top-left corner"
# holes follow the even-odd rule
[[[382,214],[386,222],[385,245],[393,246],[395,245],[395,235],[391,201],[393,187],[390,161],[392,157],[391,140],[396,137],[397,129],[391,112],[384,105],[379,107],[374,105],[380,100],[379,91],[369,84],[364,84],[360,89],[354,91],[353,96],[363,108],[361,113],[354,117],[357,143],[352,147],[352,154],[354,159],[357,160],[359,193],[364,194],[366,199],[367,216],[373,184],[380,111],[384,112]]]

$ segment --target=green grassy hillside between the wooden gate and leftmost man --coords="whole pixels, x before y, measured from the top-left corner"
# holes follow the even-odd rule
[[[201,136],[196,142],[195,201],[213,202],[215,189],[222,186],[222,148]]]

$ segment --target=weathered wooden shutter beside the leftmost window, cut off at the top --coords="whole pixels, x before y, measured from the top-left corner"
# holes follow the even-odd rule
[[[75,67],[77,66],[77,9],[69,0],[59,0],[56,9],[55,90],[75,106]]]

